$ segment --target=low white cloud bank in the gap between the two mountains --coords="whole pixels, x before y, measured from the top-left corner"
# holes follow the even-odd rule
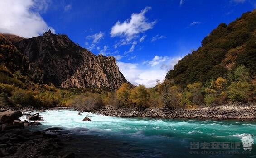
[[[154,87],[158,80],[164,80],[166,73],[173,69],[180,59],[181,57],[155,56],[151,61],[146,62],[147,65],[124,62],[117,62],[117,65],[125,78],[132,84]]]

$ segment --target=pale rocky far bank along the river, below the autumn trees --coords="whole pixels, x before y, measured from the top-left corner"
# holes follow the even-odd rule
[[[113,109],[111,106],[97,109],[94,113],[118,117],[152,117],[152,118],[186,118],[186,119],[237,119],[237,120],[255,120],[256,119],[256,102],[246,104],[230,103],[217,107],[204,107],[197,109],[181,108],[120,108]]]

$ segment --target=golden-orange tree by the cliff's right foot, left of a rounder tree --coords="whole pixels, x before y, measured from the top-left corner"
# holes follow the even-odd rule
[[[130,99],[130,85],[123,83],[120,88],[116,91],[116,97],[118,100],[124,103],[124,105],[129,104]]]

